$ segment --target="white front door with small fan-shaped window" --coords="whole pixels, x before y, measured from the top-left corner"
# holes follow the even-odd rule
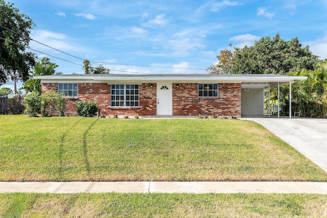
[[[157,84],[157,115],[173,115],[172,84]]]

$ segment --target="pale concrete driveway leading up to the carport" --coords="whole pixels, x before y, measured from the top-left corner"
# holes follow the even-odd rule
[[[327,119],[243,117],[261,124],[327,172]]]

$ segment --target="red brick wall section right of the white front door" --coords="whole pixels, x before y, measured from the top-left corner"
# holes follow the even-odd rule
[[[241,116],[241,84],[219,83],[218,98],[199,98],[197,83],[173,84],[173,115]]]

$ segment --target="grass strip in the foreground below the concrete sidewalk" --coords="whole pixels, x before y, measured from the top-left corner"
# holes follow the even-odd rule
[[[3,193],[1,217],[326,217],[327,195]]]

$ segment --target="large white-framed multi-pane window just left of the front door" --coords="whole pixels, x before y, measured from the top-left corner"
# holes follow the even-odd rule
[[[111,85],[111,107],[138,107],[138,85]]]

